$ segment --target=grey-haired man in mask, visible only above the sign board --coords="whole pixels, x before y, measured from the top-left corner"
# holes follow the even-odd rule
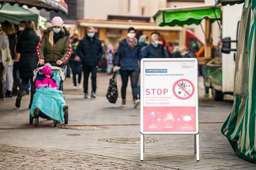
[[[159,35],[152,34],[151,44],[142,49],[143,58],[166,58],[165,49],[159,44]]]

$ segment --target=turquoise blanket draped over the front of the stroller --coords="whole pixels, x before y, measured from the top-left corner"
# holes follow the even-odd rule
[[[38,107],[45,115],[64,122],[63,106],[65,105],[62,91],[53,88],[38,88],[33,97],[30,114],[34,117],[34,108]]]

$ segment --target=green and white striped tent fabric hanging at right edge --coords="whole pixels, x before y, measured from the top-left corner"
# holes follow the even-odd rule
[[[223,0],[228,4],[227,0]],[[221,0],[220,0],[221,2]],[[234,4],[230,1],[230,5]],[[242,1],[237,1],[241,3]],[[237,3],[236,2],[236,3]],[[222,3],[222,2],[221,2]],[[222,126],[236,154],[256,163],[256,0],[245,0],[238,37],[234,103]]]

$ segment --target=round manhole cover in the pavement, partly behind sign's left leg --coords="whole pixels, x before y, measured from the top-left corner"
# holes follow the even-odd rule
[[[99,141],[106,141],[111,143],[128,143],[128,144],[138,144],[140,143],[140,138],[110,138],[110,139],[99,139]],[[145,139],[145,143],[155,143],[157,140]]]

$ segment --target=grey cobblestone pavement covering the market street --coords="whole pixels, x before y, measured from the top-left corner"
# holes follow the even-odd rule
[[[107,83],[101,88],[104,86]],[[69,90],[71,86],[65,88]],[[79,126],[80,130],[54,128],[52,121],[44,119],[40,119],[43,127],[33,128],[28,124],[28,96],[22,99],[19,109],[14,108],[15,98],[0,101],[0,167],[3,167],[0,169],[256,169],[255,164],[237,157],[220,133],[232,101],[199,102],[199,162],[194,154],[193,135],[145,135],[145,139],[155,142],[145,144],[144,162],[141,162],[139,143],[105,140],[140,137],[139,109],[132,108],[131,99],[127,107],[120,107],[120,99],[117,104],[110,104],[100,95],[85,100],[82,95],[67,93],[65,98],[69,105],[69,125],[91,125],[91,129],[88,126]],[[17,127],[30,129],[3,129]]]

